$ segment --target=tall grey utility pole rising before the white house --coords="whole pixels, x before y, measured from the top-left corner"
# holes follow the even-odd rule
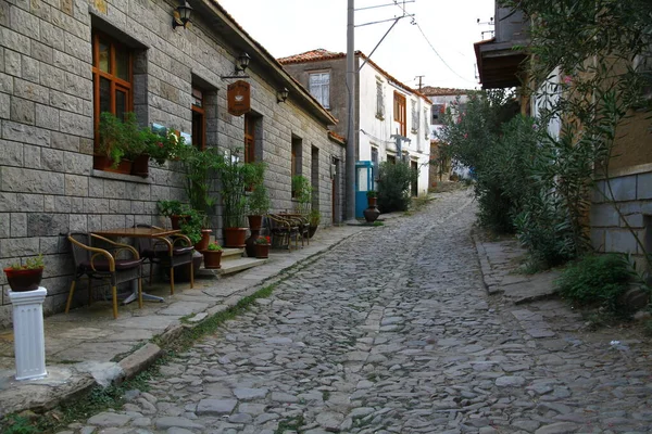
[[[347,124],[347,213],[344,220],[355,219],[355,14],[354,0],[348,0],[347,20],[347,89],[349,90],[349,116]]]

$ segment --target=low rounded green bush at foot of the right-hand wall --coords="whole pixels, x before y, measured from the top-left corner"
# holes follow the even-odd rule
[[[570,264],[557,279],[560,294],[580,306],[600,305],[610,312],[628,314],[620,296],[632,271],[622,255],[587,255]]]

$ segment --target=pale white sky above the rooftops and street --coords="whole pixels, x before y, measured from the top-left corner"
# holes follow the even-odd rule
[[[226,11],[275,58],[323,48],[347,51],[347,0],[218,0]],[[403,15],[394,0],[355,0],[355,25]],[[479,88],[473,43],[493,26],[493,0],[414,0],[372,60],[403,84],[459,89]],[[480,24],[477,20],[480,20]],[[355,50],[369,54],[391,22],[355,28]],[[423,31],[423,34],[422,34]],[[490,34],[485,34],[487,39]],[[430,42],[428,43],[427,40]],[[431,47],[430,47],[431,46]]]

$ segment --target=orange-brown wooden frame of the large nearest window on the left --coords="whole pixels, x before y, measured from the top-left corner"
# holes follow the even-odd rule
[[[110,72],[105,73],[100,69],[100,39],[109,43],[109,55],[110,55]],[[127,52],[127,78],[128,81],[117,77],[116,75],[116,63],[115,63],[115,50],[121,49]],[[108,79],[110,82],[110,107],[109,111],[115,114],[115,94],[116,91],[122,91],[126,94],[126,106],[125,113],[134,111],[134,52],[123,43],[117,42],[114,38],[101,31],[92,33],[92,98],[93,98],[93,130],[95,130],[95,144],[99,141],[99,128],[100,128],[100,78]]]

